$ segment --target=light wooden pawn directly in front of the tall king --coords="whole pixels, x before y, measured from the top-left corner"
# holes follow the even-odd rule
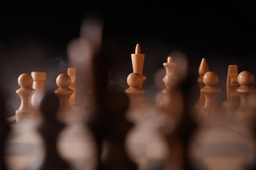
[[[143,78],[139,73],[130,73],[127,77],[127,84],[130,87],[125,90],[125,93],[130,98],[129,111],[141,110],[148,106],[142,96],[145,93],[145,90],[140,87],[142,82]]]

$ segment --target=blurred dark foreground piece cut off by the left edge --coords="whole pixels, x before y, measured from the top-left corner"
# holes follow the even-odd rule
[[[4,97],[0,94],[0,170],[7,170],[7,165],[4,160],[4,150],[6,146],[6,139],[11,128],[7,125],[5,121],[5,104],[4,104]]]

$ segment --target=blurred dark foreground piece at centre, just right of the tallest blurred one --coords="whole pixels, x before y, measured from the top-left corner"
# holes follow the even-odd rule
[[[106,135],[102,164],[104,170],[137,170],[126,152],[126,135],[133,124],[126,120],[129,99],[125,93],[110,91],[107,101]]]

